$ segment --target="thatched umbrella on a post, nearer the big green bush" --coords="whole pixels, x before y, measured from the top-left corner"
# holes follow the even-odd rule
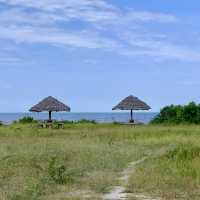
[[[112,110],[130,110],[131,111],[130,122],[134,122],[133,110],[150,110],[150,109],[151,109],[151,107],[148,106],[145,102],[141,101],[137,97],[130,95],[130,96],[126,97],[124,100],[122,100]]]

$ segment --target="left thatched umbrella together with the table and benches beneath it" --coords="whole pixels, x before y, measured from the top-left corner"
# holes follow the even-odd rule
[[[49,96],[42,101],[40,101],[38,104],[33,106],[30,110],[30,112],[48,112],[49,119],[48,121],[41,122],[38,126],[40,128],[64,128],[63,123],[56,123],[54,124],[52,121],[52,113],[53,112],[70,112],[71,108],[64,103],[60,102],[56,98]]]

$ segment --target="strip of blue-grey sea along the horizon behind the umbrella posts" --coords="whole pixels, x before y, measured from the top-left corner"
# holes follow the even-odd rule
[[[148,124],[157,113],[152,112],[135,112],[134,119],[138,122]],[[10,124],[25,116],[31,116],[37,120],[48,119],[48,113],[0,113],[0,121]],[[110,122],[128,122],[130,119],[129,112],[111,112],[111,113],[53,113],[54,120],[79,121],[81,119],[95,120],[98,123]]]

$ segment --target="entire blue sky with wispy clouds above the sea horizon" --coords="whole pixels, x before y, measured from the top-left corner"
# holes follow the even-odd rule
[[[0,112],[54,96],[109,112],[200,103],[200,1],[0,0]]]

